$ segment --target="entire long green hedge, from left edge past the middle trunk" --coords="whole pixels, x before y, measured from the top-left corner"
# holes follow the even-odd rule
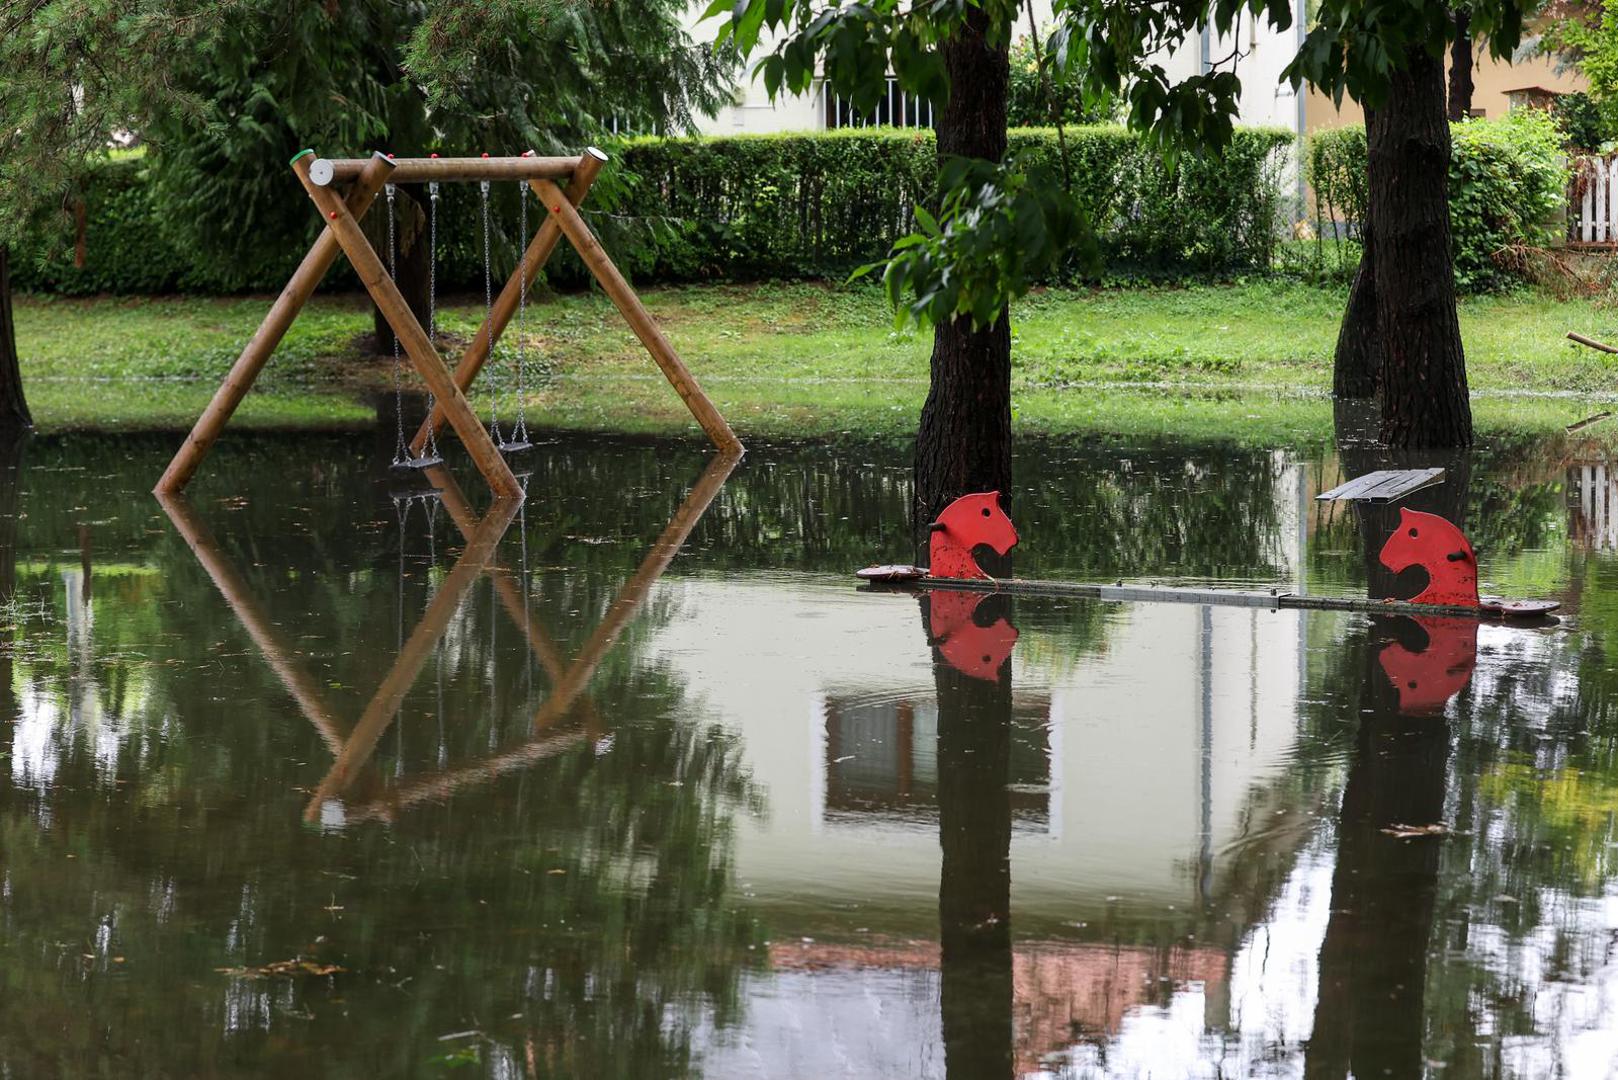
[[[1066,144],[1066,172],[1097,225],[1108,272],[1191,277],[1270,266],[1291,133],[1241,130],[1223,155],[1183,155],[1175,165],[1120,126],[1069,128]],[[1016,130],[1011,149],[1063,172],[1055,131]],[[602,185],[613,202],[594,217],[642,282],[846,275],[909,232],[937,167],[932,133],[916,130],[631,139],[613,157],[615,176]],[[18,259],[16,285],[68,295],[230,291],[205,259],[165,240],[144,175],[139,159],[104,165],[87,185],[87,264],[74,267],[60,236],[40,238],[34,259]],[[495,219],[506,232],[495,243],[497,274],[510,270],[516,251],[515,194],[500,199]],[[537,223],[537,207],[529,209]],[[440,283],[481,290],[471,185],[447,186],[438,235]],[[301,256],[267,253],[246,288],[280,288]],[[581,274],[566,259],[552,280],[574,283]],[[351,285],[353,277],[338,272],[332,282]]]

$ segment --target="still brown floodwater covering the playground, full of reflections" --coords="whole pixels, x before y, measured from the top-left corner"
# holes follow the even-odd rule
[[[1550,628],[858,591],[901,449],[172,449],[0,463],[0,1077],[1618,1070],[1599,442],[1427,494]],[[1364,594],[1343,470],[1023,444],[1016,568]]]

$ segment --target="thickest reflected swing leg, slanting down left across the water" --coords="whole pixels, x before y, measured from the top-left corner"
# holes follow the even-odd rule
[[[427,657],[432,656],[438,638],[448,630],[450,620],[460,610],[468,589],[472,588],[484,567],[493,559],[495,547],[498,547],[500,538],[511,526],[511,520],[516,517],[519,507],[521,502],[516,499],[498,499],[489,507],[484,520],[477,523],[477,529],[466,541],[466,551],[461,552],[455,567],[443,578],[438,591],[427,604],[427,610],[422,612],[421,622],[411,630],[404,648],[400,649],[398,659],[393,661],[393,667],[382,677],[382,685],[377,687],[371,704],[366,706],[364,716],[359,717],[348,742],[343,743],[337,761],[332,763],[325,779],[320,780],[319,790],[309,800],[304,810],[307,821],[319,821],[320,803],[348,787],[366,761],[371,759],[377,740],[382,738],[382,732],[393,722],[393,716],[400,711],[400,703],[404,701],[404,695],[414,685],[417,675],[421,675],[421,669],[427,664]]]

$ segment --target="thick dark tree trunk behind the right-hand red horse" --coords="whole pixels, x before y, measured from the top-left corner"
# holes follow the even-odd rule
[[[1466,356],[1450,256],[1450,121],[1443,63],[1421,49],[1393,73],[1370,131],[1382,440],[1391,447],[1472,442]]]

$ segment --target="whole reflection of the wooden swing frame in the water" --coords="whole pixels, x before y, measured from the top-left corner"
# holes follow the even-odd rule
[[[429,466],[426,474],[442,489],[443,508],[461,533],[466,547],[438,585],[411,635],[408,638],[403,633],[400,635],[398,659],[393,661],[393,665],[382,677],[359,722],[346,735],[317,682],[298,664],[294,651],[282,640],[246,581],[220,551],[191,505],[183,497],[159,495],[159,499],[175,528],[184,538],[193,554],[196,554],[197,562],[202,563],[202,568],[214,580],[225,602],[248,631],[248,636],[252,638],[265,662],[269,662],[282,685],[286,687],[286,691],[298,703],[303,714],[320,732],[320,737],[335,756],[330,771],[309,800],[304,811],[306,819],[320,821],[327,818],[338,823],[366,819],[390,821],[400,810],[421,801],[445,798],[464,785],[487,782],[513,769],[531,766],[536,761],[552,758],[602,733],[600,719],[589,706],[584,690],[616,641],[618,633],[646,601],[652,585],[657,583],[668,568],[668,563],[680,554],[680,549],[691,536],[697,521],[702,520],[702,515],[714,502],[731,470],[735,470],[738,460],[738,455],[722,453],[709,461],[707,470],[670,518],[668,526],[654,541],[639,568],[636,568],[634,575],[618,591],[618,596],[607,607],[602,622],[591,633],[571,664],[563,659],[557,643],[534,620],[526,599],[526,583],[521,578],[513,578],[510,570],[495,562],[495,551],[511,521],[518,517],[521,504],[515,500],[495,500],[489,513],[482,520],[477,520],[450,473],[442,466]],[[432,497],[406,495],[406,499],[430,500]],[[408,513],[406,504],[406,508],[400,512],[401,523],[408,520]],[[432,513],[429,510],[429,529]],[[403,539],[401,533],[401,546]],[[523,570],[526,572],[526,567]],[[382,735],[395,722],[404,695],[421,677],[427,659],[437,654],[438,641],[443,638],[472,585],[484,573],[490,575],[502,607],[524,631],[529,651],[539,659],[550,678],[550,695],[534,712],[529,722],[529,737],[516,746],[492,753],[474,764],[453,769],[443,767],[443,743],[440,738],[440,769],[437,772],[400,780],[390,792],[380,797],[354,805],[343,803],[343,793],[371,761]],[[403,599],[400,610],[403,612]],[[400,622],[400,628],[403,630],[403,620]],[[561,721],[570,717],[574,706],[579,706],[581,722],[563,725]]]

